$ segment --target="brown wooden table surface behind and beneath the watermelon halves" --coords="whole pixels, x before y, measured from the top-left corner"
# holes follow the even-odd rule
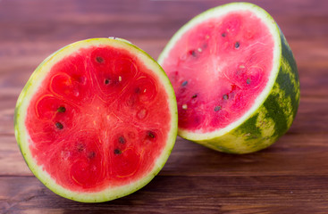
[[[228,1],[0,0],[0,213],[328,213],[328,1],[251,1],[279,23],[299,66],[290,131],[248,155],[177,139],[164,169],[137,193],[87,204],[52,193],[24,163],[13,134],[16,99],[63,45],[124,37],[154,58],[194,15]]]

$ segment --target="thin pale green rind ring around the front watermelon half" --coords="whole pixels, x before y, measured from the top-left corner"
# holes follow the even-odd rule
[[[171,129],[169,131],[169,136],[166,141],[163,152],[157,158],[156,163],[154,164],[153,169],[147,173],[145,177],[142,177],[139,180],[133,181],[127,185],[121,186],[109,186],[103,191],[96,193],[80,193],[73,192],[63,186],[55,183],[55,180],[45,171],[38,166],[37,162],[32,158],[32,155],[29,151],[29,134],[25,127],[25,118],[27,108],[29,106],[29,101],[36,92],[38,92],[38,87],[42,84],[46,73],[56,62],[59,62],[66,55],[76,52],[80,48],[85,48],[86,46],[93,45],[111,45],[119,48],[124,48],[129,50],[130,53],[135,54],[136,57],[140,59],[140,62],[144,62],[146,67],[149,70],[153,70],[156,73],[156,76],[161,79],[161,82],[164,85],[164,88],[168,95],[168,103],[170,113],[172,115],[171,119]],[[15,113],[14,113],[14,131],[17,143],[20,147],[21,154],[24,157],[29,169],[32,173],[38,177],[38,179],[46,185],[54,193],[57,193],[64,198],[71,199],[77,202],[107,202],[117,198],[121,198],[130,193],[134,193],[144,185],[147,185],[164,167],[165,162],[167,161],[169,155],[172,152],[172,148],[175,144],[176,136],[178,129],[178,111],[176,106],[176,98],[172,89],[171,82],[167,78],[164,70],[158,65],[158,63],[146,52],[139,49],[136,45],[130,44],[130,42],[121,39],[121,38],[90,38],[82,40],[71,45],[67,45],[62,49],[56,51],[46,58],[38,68],[30,76],[27,84],[21,91],[21,95],[18,98],[16,103]]]

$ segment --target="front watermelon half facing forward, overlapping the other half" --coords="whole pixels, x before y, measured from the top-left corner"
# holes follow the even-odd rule
[[[172,85],[147,53],[93,38],[50,55],[15,110],[15,135],[36,177],[79,202],[105,202],[146,185],[172,151]]]

